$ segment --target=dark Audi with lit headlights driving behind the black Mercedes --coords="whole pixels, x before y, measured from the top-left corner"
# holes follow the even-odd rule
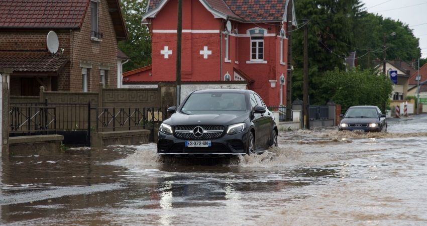
[[[352,106],[341,115],[338,129],[353,132],[387,132],[387,121],[377,106]]]

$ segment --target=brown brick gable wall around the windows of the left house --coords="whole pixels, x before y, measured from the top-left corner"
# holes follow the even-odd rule
[[[107,87],[117,85],[117,40],[108,5],[102,0],[98,3],[98,31],[103,34],[102,41],[91,40],[91,9],[90,6],[84,17],[79,31],[71,36],[72,57],[69,91],[82,91],[82,75],[80,63],[88,63],[92,68],[88,70],[88,91],[98,91],[100,82],[99,65],[108,66]]]

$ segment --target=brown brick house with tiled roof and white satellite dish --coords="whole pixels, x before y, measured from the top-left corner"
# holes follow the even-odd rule
[[[58,36],[57,54],[47,50],[49,31]],[[11,95],[38,95],[40,86],[117,87],[118,61],[126,60],[118,58],[117,41],[127,36],[119,0],[0,0],[0,67],[13,69]]]

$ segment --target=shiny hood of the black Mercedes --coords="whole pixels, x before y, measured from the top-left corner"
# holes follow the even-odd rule
[[[209,114],[209,115],[185,115],[181,112],[174,113],[164,123],[177,126],[177,125],[222,125],[229,126],[236,123],[243,123],[249,118],[248,112],[242,114]],[[200,121],[200,122],[199,122]]]

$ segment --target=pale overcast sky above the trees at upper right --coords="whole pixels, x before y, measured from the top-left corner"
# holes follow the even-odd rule
[[[427,1],[426,0],[361,0],[369,13],[399,20],[413,29],[419,38],[422,58],[427,57]],[[422,24],[422,25],[421,25]],[[418,25],[418,26],[416,26]],[[390,31],[393,32],[393,31]]]

